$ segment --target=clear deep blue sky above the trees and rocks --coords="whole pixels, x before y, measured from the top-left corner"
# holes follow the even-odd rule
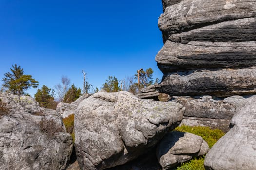
[[[62,75],[82,88],[82,70],[94,88],[140,68],[161,79],[161,13],[161,0],[0,0],[0,80],[13,64],[39,88],[53,88]]]

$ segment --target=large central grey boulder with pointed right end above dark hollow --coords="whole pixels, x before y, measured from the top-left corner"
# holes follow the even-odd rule
[[[175,128],[183,112],[181,104],[142,100],[126,91],[95,93],[75,114],[80,168],[102,170],[137,158]]]

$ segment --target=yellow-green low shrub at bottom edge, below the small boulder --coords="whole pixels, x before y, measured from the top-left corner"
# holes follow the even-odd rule
[[[182,163],[176,170],[205,170],[204,169],[204,157],[199,159],[192,159],[189,162]]]

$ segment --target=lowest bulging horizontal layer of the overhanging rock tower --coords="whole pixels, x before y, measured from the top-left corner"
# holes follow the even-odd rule
[[[165,75],[160,85],[160,92],[175,96],[254,94],[256,68],[178,72]]]

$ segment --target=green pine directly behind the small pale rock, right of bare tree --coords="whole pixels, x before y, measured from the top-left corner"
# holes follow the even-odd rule
[[[68,89],[67,93],[64,95],[63,102],[71,103],[76,101],[82,95],[82,90],[77,88],[74,84]]]

